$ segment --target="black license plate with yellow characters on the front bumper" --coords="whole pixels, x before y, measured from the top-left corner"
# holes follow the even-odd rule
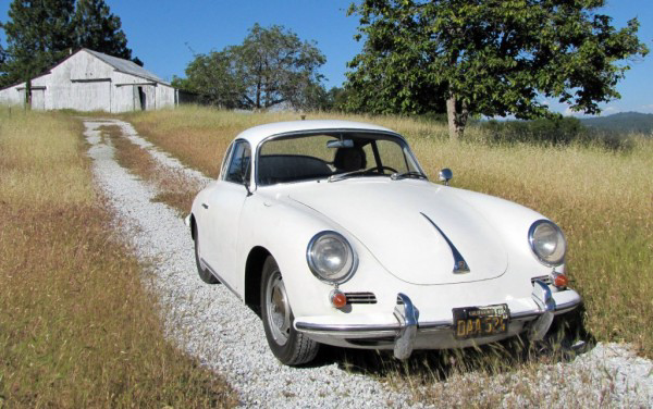
[[[488,307],[454,308],[456,338],[469,339],[504,334],[508,331],[510,311],[501,303]]]

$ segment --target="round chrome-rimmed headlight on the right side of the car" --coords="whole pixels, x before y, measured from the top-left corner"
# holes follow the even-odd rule
[[[560,228],[547,220],[538,220],[528,231],[531,249],[543,264],[553,267],[565,261],[567,244]]]

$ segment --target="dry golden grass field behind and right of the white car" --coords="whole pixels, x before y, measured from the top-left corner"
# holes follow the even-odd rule
[[[236,134],[292,113],[234,113],[185,107],[125,115],[139,133],[207,176],[218,173]],[[449,142],[446,127],[404,117],[309,113],[393,128],[410,141],[431,178],[514,200],[557,222],[567,235],[567,271],[584,299],[583,326],[599,340],[629,342],[653,358],[653,140],[632,137],[621,152],[594,145],[488,145],[479,128]]]

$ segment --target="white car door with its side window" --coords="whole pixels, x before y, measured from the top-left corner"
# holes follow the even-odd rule
[[[251,149],[246,140],[236,140],[221,179],[207,195],[202,207],[208,226],[208,245],[202,244],[202,258],[220,281],[242,293],[236,280],[236,246],[243,206],[249,196]],[[206,205],[206,206],[205,206]],[[207,251],[205,252],[206,249]]]

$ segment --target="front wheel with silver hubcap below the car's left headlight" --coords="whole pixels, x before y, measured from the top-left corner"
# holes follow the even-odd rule
[[[295,315],[288,302],[283,276],[276,261],[269,256],[261,274],[261,318],[272,354],[286,365],[310,362],[320,344],[295,330]]]

